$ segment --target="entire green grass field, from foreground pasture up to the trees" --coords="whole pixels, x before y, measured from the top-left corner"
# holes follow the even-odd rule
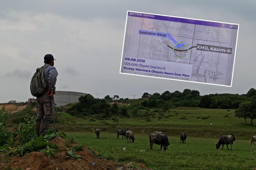
[[[153,110],[149,112],[154,113]],[[184,116],[187,119],[180,119]],[[208,119],[202,119],[207,116]],[[96,121],[89,121],[91,118]],[[87,120],[69,117],[65,123],[57,124],[57,128],[112,161],[133,161],[162,170],[256,168],[256,149],[250,145],[256,127],[245,126],[244,119],[234,117],[234,110],[179,107],[156,113],[153,117],[117,118],[118,122],[97,120],[97,117],[87,117]],[[96,139],[93,132],[96,128],[101,129],[100,139]],[[116,139],[117,129],[129,128],[135,133],[135,143]],[[156,144],[153,151],[150,150],[148,134],[153,131],[168,135],[170,145],[167,151],[159,151],[160,145]],[[181,132],[187,134],[186,144],[179,143]],[[215,143],[227,133],[236,137],[233,151],[227,150],[226,146],[223,150],[216,149]],[[126,151],[123,151],[124,147]]]

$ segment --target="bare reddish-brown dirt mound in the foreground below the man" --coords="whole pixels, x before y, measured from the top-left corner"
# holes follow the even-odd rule
[[[118,163],[102,159],[98,155],[97,151],[91,150],[88,147],[84,147],[83,151],[77,151],[75,154],[79,154],[82,158],[73,160],[67,157],[66,152],[70,151],[66,147],[67,141],[60,137],[54,138],[51,143],[59,144],[59,151],[56,151],[56,155],[52,155],[50,159],[47,155],[42,152],[31,152],[24,155],[23,157],[15,156],[7,164],[7,167],[17,169],[21,167],[23,170],[70,170],[70,169],[83,169],[83,170],[132,170],[132,169],[147,169],[145,165],[136,164],[134,168],[133,163]],[[69,143],[70,146],[74,147],[77,145],[75,142]],[[95,163],[95,164],[94,164]],[[1,169],[1,165],[0,165]]]

